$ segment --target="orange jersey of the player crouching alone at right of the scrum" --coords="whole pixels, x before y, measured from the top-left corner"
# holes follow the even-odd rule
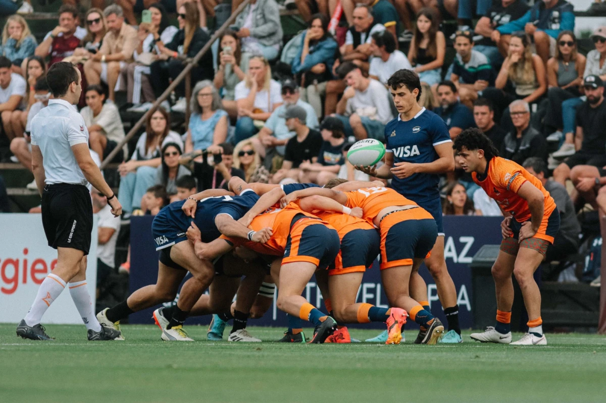
[[[488,172],[484,180],[478,179],[477,172],[471,172],[473,181],[501,206],[504,211],[510,212],[518,222],[530,220],[528,202],[518,196],[518,191],[525,182],[530,182],[545,196],[544,215],[548,216],[556,208],[553,197],[543,187],[540,180],[522,166],[501,157],[494,157],[488,162]]]

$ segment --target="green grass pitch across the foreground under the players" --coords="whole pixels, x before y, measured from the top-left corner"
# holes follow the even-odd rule
[[[545,347],[163,342],[124,326],[123,342],[88,342],[83,326],[47,326],[52,342],[0,325],[0,401],[84,402],[597,402],[606,396],[606,338],[548,335]],[[265,340],[281,329],[249,327]],[[373,330],[352,329],[359,339]],[[308,334],[311,334],[309,330]],[[514,335],[514,339],[520,335]],[[395,395],[395,396],[394,396]]]

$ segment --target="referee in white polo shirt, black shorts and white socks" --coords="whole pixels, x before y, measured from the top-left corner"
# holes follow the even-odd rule
[[[88,150],[88,131],[75,106],[82,92],[81,74],[59,62],[46,81],[54,99],[32,120],[32,168],[42,196],[42,225],[48,246],[57,249],[57,265],[38,290],[30,311],[17,327],[25,339],[51,340],[40,324],[44,312],[67,286],[88,329],[89,340],[113,340],[118,330],[101,326],[86,287],[86,263],[93,230],[90,182],[107,197],[112,214],[122,206]]]

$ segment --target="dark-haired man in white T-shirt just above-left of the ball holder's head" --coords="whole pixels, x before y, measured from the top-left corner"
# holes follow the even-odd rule
[[[374,57],[370,60],[368,75],[386,86],[391,74],[401,68],[412,70],[408,57],[396,49],[396,39],[390,31],[373,33],[370,51]]]

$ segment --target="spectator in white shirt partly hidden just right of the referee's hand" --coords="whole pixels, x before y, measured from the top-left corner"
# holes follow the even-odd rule
[[[112,206],[97,189],[90,192],[93,201],[93,214],[97,221],[97,288],[104,283],[107,275],[116,270],[116,241],[120,232],[120,217],[112,214]]]

